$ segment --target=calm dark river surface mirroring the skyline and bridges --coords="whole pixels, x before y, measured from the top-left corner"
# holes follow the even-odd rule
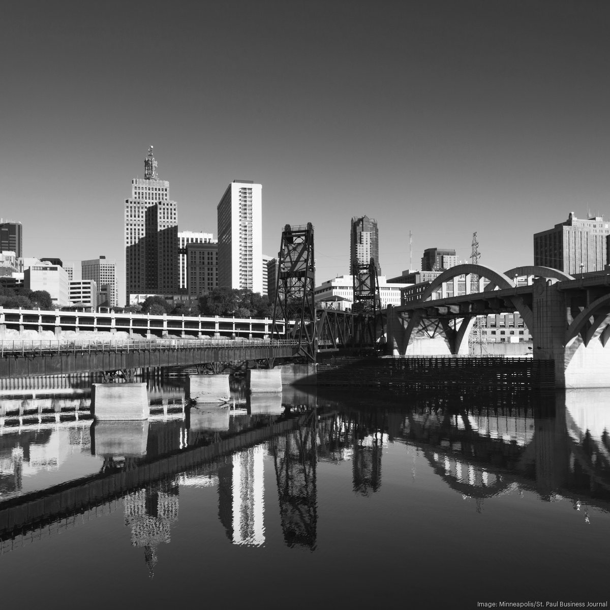
[[[181,391],[148,423],[2,418],[7,608],[610,597],[609,390]]]

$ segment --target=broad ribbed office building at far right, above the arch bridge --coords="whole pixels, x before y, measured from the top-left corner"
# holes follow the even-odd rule
[[[534,234],[534,265],[553,267],[570,275],[602,271],[608,262],[609,234],[608,221],[603,217],[583,220],[570,212],[565,222]]]

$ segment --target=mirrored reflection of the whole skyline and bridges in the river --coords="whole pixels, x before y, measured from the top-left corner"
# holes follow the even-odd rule
[[[314,551],[325,519],[320,465],[328,472],[351,461],[353,493],[382,494],[384,450],[398,443],[412,477],[431,468],[479,512],[525,490],[569,501],[584,522],[590,509],[610,509],[610,390],[286,398],[149,423],[0,428],[1,553],[121,510],[152,575],[159,545],[179,522],[181,490],[197,487],[217,488],[218,520],[232,544],[266,543],[275,498],[285,545]],[[62,467],[73,480],[62,479]]]

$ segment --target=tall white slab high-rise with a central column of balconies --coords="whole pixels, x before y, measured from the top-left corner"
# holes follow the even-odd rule
[[[234,180],[217,210],[218,286],[262,293],[262,185]]]

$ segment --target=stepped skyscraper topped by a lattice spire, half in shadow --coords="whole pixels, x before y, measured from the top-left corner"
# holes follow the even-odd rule
[[[131,181],[125,199],[125,269],[130,294],[178,293],[178,210],[170,183],[160,180],[152,146],[144,160],[144,178]]]

